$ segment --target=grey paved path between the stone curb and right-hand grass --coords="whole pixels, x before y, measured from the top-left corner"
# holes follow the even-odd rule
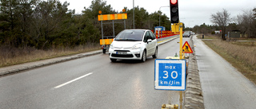
[[[193,40],[206,109],[255,109],[255,85],[197,37]]]

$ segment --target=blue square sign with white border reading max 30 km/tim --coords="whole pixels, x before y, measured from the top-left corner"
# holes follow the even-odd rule
[[[185,91],[186,60],[155,60],[154,88],[158,90]]]

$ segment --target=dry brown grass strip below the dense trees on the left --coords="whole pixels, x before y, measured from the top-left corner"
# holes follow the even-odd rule
[[[58,56],[68,56],[76,53],[85,53],[100,49],[99,45],[90,44],[77,46],[74,48],[38,50],[30,47],[13,48],[10,46],[0,46],[0,68],[14,64],[45,60]]]

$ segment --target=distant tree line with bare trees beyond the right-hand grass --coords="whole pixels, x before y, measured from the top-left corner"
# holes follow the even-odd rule
[[[223,40],[226,40],[227,32],[237,30],[241,32],[242,37],[256,38],[256,8],[243,11],[242,14],[238,14],[234,18],[230,18],[230,13],[223,9],[216,14],[211,14],[210,21],[214,25],[203,23],[202,25],[195,25],[193,28],[186,28],[186,30],[190,29],[196,33],[203,34],[214,34],[215,30],[222,30],[220,37]]]

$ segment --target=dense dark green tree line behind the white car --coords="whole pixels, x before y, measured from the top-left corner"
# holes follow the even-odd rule
[[[93,0],[82,14],[69,10],[68,2],[58,0],[0,0],[0,45],[52,49],[99,43],[102,14],[121,14],[103,0]],[[126,9],[126,29],[133,29],[133,9]],[[154,29],[161,25],[170,29],[170,20],[161,11],[149,14],[144,8],[134,8],[135,28]],[[108,21],[105,21],[108,22]],[[114,24],[115,33],[124,29],[123,23]],[[113,36],[113,25],[103,25],[104,36]],[[116,34],[115,34],[116,35]]]

